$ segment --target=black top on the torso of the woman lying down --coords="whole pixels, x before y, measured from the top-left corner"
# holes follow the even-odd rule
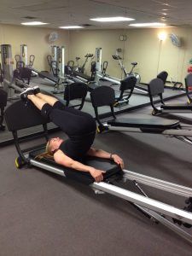
[[[84,136],[73,136],[61,143],[59,149],[73,160],[83,160],[96,136],[93,131]]]

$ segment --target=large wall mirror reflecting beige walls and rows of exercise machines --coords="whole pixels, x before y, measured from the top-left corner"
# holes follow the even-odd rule
[[[24,82],[29,83],[30,86],[38,84],[42,90],[49,93],[54,92],[54,95],[62,102],[64,102],[63,91],[66,84],[83,82],[87,84],[89,91],[82,110],[93,116],[95,113],[90,102],[90,91],[94,90],[96,86],[112,87],[117,98],[120,94],[121,80],[130,74],[136,76],[137,84],[129,101],[124,104],[116,104],[114,110],[122,112],[127,109],[141,108],[143,105],[149,104],[147,84],[151,79],[154,79],[161,71],[166,71],[168,73],[167,81],[171,82],[166,85],[172,86],[175,82],[184,84],[189,59],[191,59],[190,28],[174,28],[174,30],[172,27],[163,29],[127,28],[70,32],[58,30],[59,37],[54,47],[49,45],[47,40],[38,42],[38,45],[35,42],[32,44],[30,30],[26,31],[23,27],[2,26],[8,38],[12,38],[9,44],[1,46],[1,84],[9,98],[5,108],[20,98],[20,91],[16,90],[14,86],[9,87],[13,71],[18,66],[13,61],[13,55],[20,55],[21,58],[20,49],[23,49],[20,47],[20,42],[15,42],[15,38],[11,37],[13,28],[16,31],[20,29],[21,38],[25,38],[26,41],[23,44],[25,45],[25,58],[22,58],[24,62],[22,67],[27,64],[26,67],[31,69],[31,77],[30,81],[23,78]],[[34,28],[35,30],[41,34],[42,38],[47,36],[45,30]],[[158,38],[162,32],[167,35],[164,41]],[[179,47],[172,44],[169,36],[171,34],[182,38]],[[11,45],[13,52],[10,51]],[[53,49],[55,50],[54,56]],[[36,56],[33,65],[30,65],[30,55]],[[171,94],[179,93],[178,90],[171,91]],[[79,100],[75,100],[75,102],[79,102]],[[99,109],[99,113],[105,114],[103,117],[107,116],[108,108]],[[3,124],[5,125],[4,120]],[[34,128],[34,131],[38,131],[38,127]],[[28,133],[31,132],[28,131]],[[0,142],[9,140],[11,137],[6,127],[5,131],[0,131]]]

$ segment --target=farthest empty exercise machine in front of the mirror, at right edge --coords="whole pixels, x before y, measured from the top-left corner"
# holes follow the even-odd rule
[[[188,88],[188,86],[186,87]],[[192,105],[187,104],[165,104],[163,101],[164,84],[161,79],[152,79],[148,84],[148,95],[150,103],[153,108],[152,114],[159,113],[191,113]],[[159,96],[161,105],[160,107],[155,106],[154,97]]]

